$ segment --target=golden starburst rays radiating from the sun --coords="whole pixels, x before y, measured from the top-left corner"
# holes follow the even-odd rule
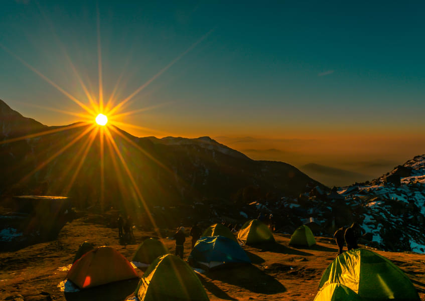
[[[68,195],[73,188],[74,183],[77,181],[78,176],[83,171],[83,167],[86,163],[88,163],[88,158],[93,161],[96,160],[96,157],[93,157],[93,153],[90,153],[90,150],[98,145],[99,147],[99,157],[98,162],[90,162],[90,164],[98,164],[100,167],[100,195],[99,195],[99,203],[101,206],[101,209],[105,209],[105,162],[106,159],[109,160],[108,162],[112,164],[113,170],[115,171],[115,174],[113,175],[114,180],[117,182],[117,187],[119,191],[122,192],[122,195],[126,194],[129,195],[129,192],[134,192],[134,201],[136,206],[143,208],[144,212],[148,215],[149,221],[152,223],[153,227],[157,231],[157,235],[161,237],[161,234],[159,232],[159,229],[157,227],[156,221],[153,217],[153,215],[150,212],[149,206],[141,193],[140,188],[138,187],[138,182],[136,179],[138,179],[138,175],[134,175],[132,170],[132,166],[126,160],[129,160],[130,158],[128,156],[124,156],[120,150],[121,143],[126,143],[128,145],[131,145],[134,149],[137,150],[137,152],[140,152],[144,155],[144,158],[146,160],[152,161],[156,164],[156,166],[159,169],[162,169],[172,175],[173,178],[178,177],[175,175],[173,171],[171,171],[169,168],[167,168],[162,162],[160,162],[157,158],[155,158],[152,154],[147,152],[143,147],[138,145],[135,141],[130,139],[126,134],[121,132],[117,128],[117,126],[123,126],[126,128],[136,128],[138,130],[143,130],[149,133],[157,132],[161,134],[168,134],[164,133],[160,130],[151,129],[148,127],[138,126],[135,124],[126,123],[123,121],[123,118],[134,115],[134,114],[140,114],[143,112],[146,112],[148,110],[157,109],[159,107],[162,107],[169,102],[147,106],[144,108],[139,108],[135,110],[128,110],[130,105],[133,103],[135,97],[138,95],[140,98],[139,93],[142,90],[145,90],[152,82],[154,82],[157,78],[159,78],[162,74],[164,74],[168,69],[170,69],[173,65],[175,65],[179,60],[181,60],[187,53],[189,53],[193,48],[195,48],[200,42],[202,42],[212,31],[205,34],[203,37],[201,37],[198,41],[196,41],[194,44],[192,44],[186,51],[182,52],[179,56],[177,56],[175,59],[173,59],[168,65],[163,67],[159,72],[157,72],[155,75],[153,75],[149,80],[147,80],[145,83],[141,84],[139,87],[137,87],[133,92],[129,93],[124,98],[119,98],[117,96],[120,83],[125,75],[125,72],[123,71],[117,81],[115,86],[113,87],[112,92],[108,97],[106,98],[107,101],[105,102],[104,98],[104,83],[103,83],[103,77],[102,77],[102,51],[101,51],[101,36],[100,36],[100,14],[99,10],[97,8],[97,20],[96,20],[96,29],[97,29],[97,71],[98,71],[98,94],[94,95],[95,93],[92,93],[90,91],[95,91],[96,89],[93,89],[91,82],[84,82],[81,75],[77,71],[76,66],[71,60],[71,57],[68,55],[65,47],[60,44],[60,48],[62,49],[62,52],[65,56],[65,61],[68,63],[68,65],[71,67],[71,74],[73,74],[76,78],[76,82],[81,86],[82,91],[84,93],[83,97],[86,99],[81,99],[81,97],[76,97],[75,95],[72,95],[70,92],[67,91],[67,89],[61,87],[57,82],[53,81],[51,78],[44,75],[41,71],[36,69],[34,66],[29,64],[27,61],[19,57],[17,54],[13,53],[10,49],[5,47],[4,45],[0,44],[0,48],[4,49],[6,52],[11,54],[13,57],[15,57],[18,61],[20,61],[24,66],[29,68],[31,71],[33,71],[35,74],[37,74],[40,78],[42,78],[44,81],[49,83],[51,86],[53,86],[55,89],[57,89],[59,92],[61,92],[63,95],[65,95],[68,99],[72,100],[76,105],[82,109],[82,112],[73,112],[68,110],[62,110],[58,108],[52,108],[52,107],[41,107],[47,110],[59,112],[62,114],[67,114],[71,116],[76,116],[82,119],[83,122],[74,123],[68,126],[58,127],[58,128],[50,128],[45,131],[40,131],[37,133],[29,133],[27,135],[23,135],[20,137],[11,137],[9,139],[5,139],[3,141],[0,141],[0,144],[5,143],[13,143],[25,139],[32,139],[37,137],[52,137],[54,142],[51,142],[49,149],[47,149],[43,154],[45,158],[43,158],[34,169],[30,172],[28,172],[23,179],[21,179],[21,183],[29,181],[32,177],[36,175],[36,173],[44,170],[49,164],[54,165],[55,159],[57,159],[59,156],[64,154],[67,150],[72,150],[71,153],[74,154],[74,157],[67,162],[67,166],[61,171],[61,175],[59,179],[56,180],[57,186],[61,185],[62,193],[65,195]],[[53,27],[52,27],[53,30]],[[60,43],[59,39],[56,37],[57,43]],[[128,63],[128,61],[127,61]],[[152,91],[145,93],[143,97],[146,98],[147,95],[152,93]],[[96,124],[96,117],[100,114],[103,114],[105,118],[107,117],[108,123],[97,123]],[[96,121],[95,121],[96,120]],[[61,136],[53,136],[58,135],[62,132],[70,132],[70,135],[66,138],[63,138]],[[86,139],[82,139],[83,137],[87,137]],[[114,137],[115,136],[115,137]],[[98,143],[96,142],[96,137],[98,137]],[[57,139],[55,141],[55,138]],[[65,145],[63,145],[63,140],[67,141]],[[119,139],[119,145],[117,145],[116,139]],[[82,143],[77,144],[78,141],[83,141]],[[30,143],[30,142],[29,142]],[[62,145],[61,145],[62,144]],[[106,144],[106,146],[105,146]],[[71,148],[72,147],[72,148]],[[107,147],[108,149],[108,155],[105,156],[105,150],[104,148]],[[111,172],[111,171],[108,171]],[[60,183],[60,181],[66,179],[66,183]],[[177,180],[176,180],[177,181]],[[109,183],[109,182],[108,182]]]

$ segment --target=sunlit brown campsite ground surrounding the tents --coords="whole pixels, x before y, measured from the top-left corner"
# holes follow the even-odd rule
[[[67,272],[66,268],[61,267],[72,263],[81,242],[87,240],[97,246],[114,247],[131,260],[144,237],[157,236],[135,230],[137,244],[125,247],[119,244],[117,229],[109,228],[107,224],[104,216],[85,214],[67,224],[55,241],[39,243],[16,252],[0,253],[0,299],[64,300],[65,294],[58,284],[64,280]],[[288,246],[289,238],[290,235],[275,234],[277,244],[273,247],[245,246],[253,263],[250,266],[198,274],[210,299],[313,300],[322,272],[335,258],[336,246],[332,239],[319,237],[316,246],[294,248]],[[164,243],[174,252],[173,240],[165,239]],[[187,239],[185,258],[189,251],[190,239]],[[412,280],[421,300],[425,300],[425,255],[377,252],[400,267]],[[143,274],[141,270],[138,272],[139,275]],[[131,296],[134,281],[128,285],[127,289],[119,289],[122,299]],[[102,290],[88,293],[87,299],[110,299],[111,293],[101,297],[99,291]],[[18,295],[22,295],[22,298],[19,299],[21,296]],[[67,299],[71,298],[72,294],[67,295]],[[81,299],[81,295],[77,299]]]

